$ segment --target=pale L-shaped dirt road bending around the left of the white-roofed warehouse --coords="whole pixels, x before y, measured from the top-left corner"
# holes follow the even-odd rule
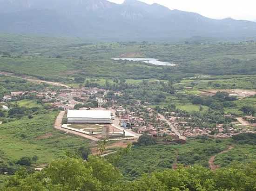
[[[64,131],[64,132],[69,133],[69,134],[74,134],[74,135],[77,135],[77,136],[80,136],[80,137],[83,137],[83,138],[86,138],[86,139],[89,139],[89,140],[93,140],[93,141],[99,141],[100,140],[98,138],[95,138],[93,136],[89,136],[87,134],[82,134],[82,133],[79,133],[79,132],[76,132],[76,131],[61,128],[61,123],[62,123],[62,119],[63,119],[64,115],[65,115],[65,111],[61,111],[60,114],[57,116],[57,118],[55,120],[55,124],[54,124],[55,129],[58,129],[60,131]]]

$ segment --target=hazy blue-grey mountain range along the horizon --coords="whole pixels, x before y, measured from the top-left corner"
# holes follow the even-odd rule
[[[0,32],[65,35],[100,40],[167,40],[191,37],[256,38],[256,23],[210,19],[138,0],[0,0]]]

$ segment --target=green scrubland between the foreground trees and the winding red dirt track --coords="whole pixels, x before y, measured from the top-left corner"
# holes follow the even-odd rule
[[[225,150],[230,144],[230,140],[216,142],[211,139],[189,139],[183,145],[135,145],[127,153],[115,153],[107,159],[120,169],[125,178],[133,180],[144,173],[171,169],[175,164],[209,167],[210,157]]]

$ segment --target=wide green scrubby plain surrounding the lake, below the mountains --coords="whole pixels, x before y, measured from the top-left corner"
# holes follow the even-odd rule
[[[16,37],[17,38],[17,37]],[[13,38],[13,39],[16,39]],[[24,39],[18,37],[18,46]],[[39,38],[40,39],[40,38]],[[12,40],[0,44],[3,51],[0,70],[17,74],[27,74],[44,79],[74,82],[74,77],[114,79],[170,79],[191,74],[234,75],[255,74],[255,43],[216,45],[169,45],[150,43],[102,43],[65,45],[56,38],[56,46],[51,38],[44,38],[39,47],[27,46],[21,54]],[[74,44],[72,44],[74,42]],[[12,49],[13,48],[13,49]],[[6,53],[4,53],[6,52]],[[113,61],[110,58],[130,53],[140,57],[154,57],[177,64],[175,67],[159,67],[145,63]],[[247,55],[244,57],[244,55]],[[31,67],[33,66],[33,67]],[[74,71],[74,72],[72,72]],[[112,74],[115,74],[113,76]]]

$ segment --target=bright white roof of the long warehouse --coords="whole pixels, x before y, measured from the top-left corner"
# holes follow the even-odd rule
[[[67,118],[106,118],[111,119],[111,111],[108,110],[68,110]]]

